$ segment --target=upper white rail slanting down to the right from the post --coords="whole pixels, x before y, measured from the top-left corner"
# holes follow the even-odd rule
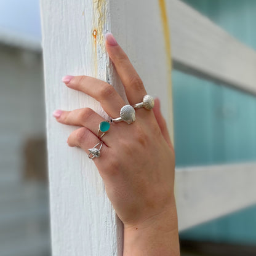
[[[174,68],[256,94],[256,52],[182,1],[167,1]]]

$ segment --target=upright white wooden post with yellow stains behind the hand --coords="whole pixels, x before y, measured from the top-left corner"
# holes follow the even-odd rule
[[[68,148],[66,138],[76,128],[52,118],[57,108],[89,106],[106,114],[94,99],[66,88],[62,76],[95,76],[109,81],[125,98],[105,52],[104,34],[111,31],[148,93],[161,98],[171,127],[170,46],[164,12],[163,0],[41,1],[53,255],[122,255],[122,225],[94,162],[84,151]]]

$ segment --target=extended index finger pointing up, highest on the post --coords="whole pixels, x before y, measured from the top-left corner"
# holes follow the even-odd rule
[[[106,50],[118,71],[122,84],[124,84],[130,105],[142,102],[142,98],[146,94],[142,79],[111,33],[106,34]]]

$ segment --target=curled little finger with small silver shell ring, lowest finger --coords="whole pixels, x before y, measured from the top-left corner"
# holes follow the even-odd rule
[[[89,154],[89,148],[94,148],[100,140],[86,127],[81,127],[77,130],[74,130],[68,137],[68,145],[69,146],[78,146],[86,151]],[[99,146],[97,146],[99,148]],[[100,150],[100,158],[107,158],[108,147],[103,143],[102,148]],[[97,158],[94,158],[96,160]]]

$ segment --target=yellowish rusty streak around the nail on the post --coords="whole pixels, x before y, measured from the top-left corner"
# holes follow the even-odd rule
[[[94,28],[92,36],[94,39],[94,72],[98,76],[97,50],[105,51],[104,27],[106,24],[106,0],[93,0],[94,4]]]

